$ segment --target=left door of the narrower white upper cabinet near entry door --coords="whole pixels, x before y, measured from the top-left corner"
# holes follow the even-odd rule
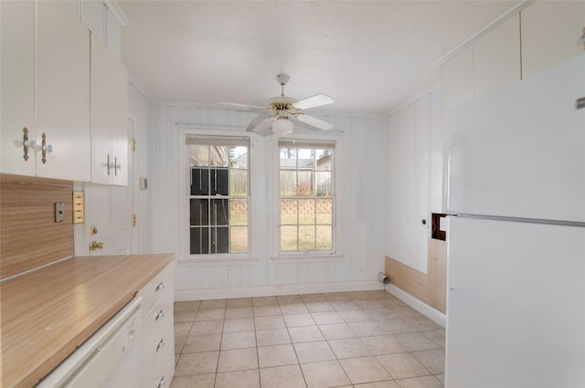
[[[91,182],[112,184],[112,55],[91,34]]]

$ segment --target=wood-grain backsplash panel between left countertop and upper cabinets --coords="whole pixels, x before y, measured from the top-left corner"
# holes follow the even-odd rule
[[[0,278],[73,256],[73,185],[0,179]],[[63,223],[55,223],[57,202]]]

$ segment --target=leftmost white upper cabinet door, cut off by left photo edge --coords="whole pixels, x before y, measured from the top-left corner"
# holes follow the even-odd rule
[[[0,172],[35,174],[35,151],[23,148],[23,129],[35,139],[35,2],[0,2],[2,107]]]

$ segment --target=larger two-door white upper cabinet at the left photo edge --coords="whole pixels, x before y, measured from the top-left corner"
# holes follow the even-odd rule
[[[0,172],[89,181],[88,29],[65,2],[1,2],[1,6]],[[27,158],[25,128],[30,145]]]

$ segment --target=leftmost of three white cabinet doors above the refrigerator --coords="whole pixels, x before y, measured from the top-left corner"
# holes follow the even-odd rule
[[[441,66],[442,144],[451,135],[451,110],[473,100],[473,46]]]

